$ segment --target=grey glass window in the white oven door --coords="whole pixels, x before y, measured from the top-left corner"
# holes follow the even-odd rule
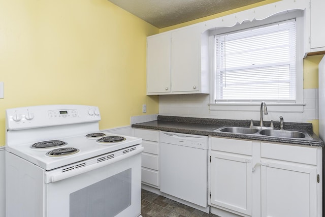
[[[70,217],[110,217],[131,205],[131,168],[70,194]]]

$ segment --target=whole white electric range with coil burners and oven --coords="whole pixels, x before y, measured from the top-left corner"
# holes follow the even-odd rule
[[[6,110],[7,217],[140,215],[142,140],[100,120],[95,106]]]

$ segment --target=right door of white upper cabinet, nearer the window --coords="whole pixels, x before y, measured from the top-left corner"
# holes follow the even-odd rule
[[[200,91],[200,37],[198,25],[172,32],[172,91]]]

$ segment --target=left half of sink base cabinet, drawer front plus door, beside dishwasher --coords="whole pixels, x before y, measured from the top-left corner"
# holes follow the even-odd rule
[[[211,206],[252,214],[252,142],[214,138],[211,143]]]

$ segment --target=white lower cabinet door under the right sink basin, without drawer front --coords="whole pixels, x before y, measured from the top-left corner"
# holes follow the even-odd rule
[[[308,166],[261,164],[262,217],[317,216],[317,170]]]

